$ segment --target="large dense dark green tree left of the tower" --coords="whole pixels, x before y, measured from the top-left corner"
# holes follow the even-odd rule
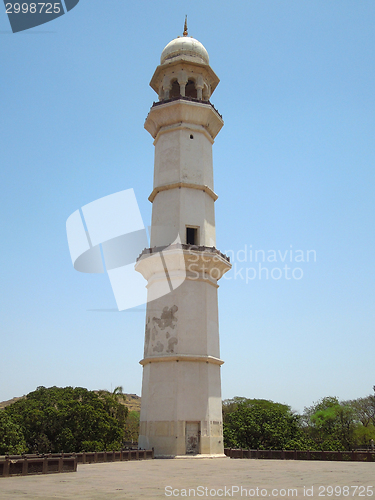
[[[23,432],[30,453],[120,448],[120,403],[81,387],[38,387],[5,411]]]

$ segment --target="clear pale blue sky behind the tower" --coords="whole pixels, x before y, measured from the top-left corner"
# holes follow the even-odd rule
[[[140,395],[145,307],[92,311],[116,307],[108,276],[73,269],[65,223],[128,188],[150,223],[148,83],[185,14],[221,79],[223,398],[302,411],[372,392],[375,2],[80,0],[16,34],[0,10],[0,401],[40,385]]]

